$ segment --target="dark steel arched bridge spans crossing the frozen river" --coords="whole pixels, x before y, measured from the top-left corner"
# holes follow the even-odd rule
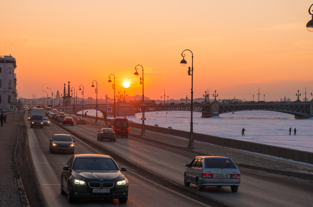
[[[286,114],[292,114],[295,118],[313,117],[313,102],[243,102],[243,103],[212,103],[192,104],[192,110],[201,112],[203,118],[218,116],[219,114],[236,111],[276,111]],[[146,112],[151,111],[191,111],[191,105],[150,105],[146,106]],[[135,113],[141,112],[141,106],[135,107]]]

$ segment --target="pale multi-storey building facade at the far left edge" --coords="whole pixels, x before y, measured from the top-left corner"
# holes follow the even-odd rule
[[[0,109],[9,110],[16,101],[16,60],[11,55],[0,56]]]

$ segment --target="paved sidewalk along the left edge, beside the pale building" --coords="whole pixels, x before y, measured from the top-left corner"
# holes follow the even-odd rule
[[[23,184],[18,173],[15,150],[22,112],[6,113],[7,121],[0,127],[0,206],[28,206]],[[13,122],[14,116],[14,122]]]

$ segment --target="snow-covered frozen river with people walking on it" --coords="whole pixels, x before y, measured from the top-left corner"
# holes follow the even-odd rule
[[[88,115],[95,115],[95,110],[88,110]],[[167,113],[167,114],[166,114]],[[101,113],[98,113],[100,116]],[[158,111],[145,113],[146,125],[158,124],[159,127],[172,127],[190,131],[190,112]],[[108,117],[111,118],[111,117]],[[116,117],[124,118],[124,117]],[[142,123],[141,113],[128,116],[127,119]],[[291,127],[291,135],[289,128]],[[241,135],[245,128],[245,136]],[[294,129],[296,128],[296,135]],[[235,114],[220,114],[219,117],[201,118],[201,113],[193,112],[193,132],[218,137],[239,139],[261,144],[299,149],[313,152],[313,118],[294,119],[293,115],[272,111],[241,111]]]

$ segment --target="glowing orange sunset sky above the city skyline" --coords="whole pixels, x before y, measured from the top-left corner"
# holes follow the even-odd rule
[[[219,98],[311,99],[313,33],[305,28],[312,1],[5,1],[0,55],[17,60],[20,97],[63,92],[63,84],[98,98],[142,94],[135,66],[144,67],[144,94],[151,99],[190,98],[191,53],[194,97],[206,88]],[[125,89],[122,82],[131,82]],[[49,90],[50,91],[50,90]],[[49,92],[48,91],[48,92]],[[49,93],[50,94],[50,93]],[[79,93],[77,93],[79,95]],[[80,93],[81,96],[81,93]],[[211,98],[211,96],[210,96]]]

